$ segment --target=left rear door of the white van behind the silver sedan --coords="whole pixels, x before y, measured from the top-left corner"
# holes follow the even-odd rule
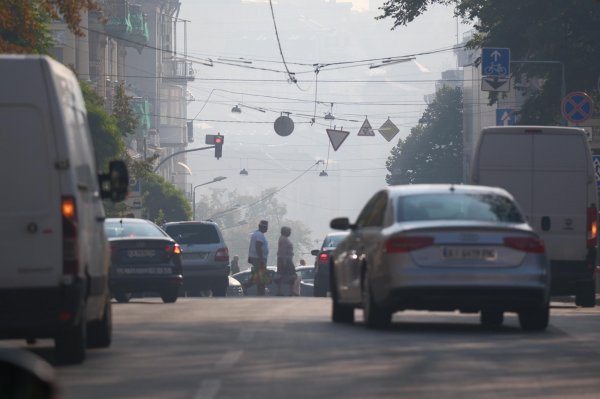
[[[483,131],[475,159],[474,182],[506,189],[528,220],[533,206],[532,166],[531,134],[515,129]]]

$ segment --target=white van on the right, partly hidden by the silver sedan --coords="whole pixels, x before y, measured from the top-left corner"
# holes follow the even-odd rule
[[[519,202],[546,243],[551,295],[595,305],[597,187],[583,129],[495,126],[481,132],[471,183],[498,186]]]

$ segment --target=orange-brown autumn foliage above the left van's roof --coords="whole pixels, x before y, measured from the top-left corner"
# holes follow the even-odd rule
[[[99,11],[96,0],[4,0],[0,7],[0,53],[47,53],[51,21],[64,21],[78,36],[84,11]]]

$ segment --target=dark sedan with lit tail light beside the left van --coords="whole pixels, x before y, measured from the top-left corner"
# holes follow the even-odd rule
[[[179,244],[150,220],[108,218],[104,228],[111,247],[110,288],[117,302],[151,293],[164,303],[176,302],[183,284]]]

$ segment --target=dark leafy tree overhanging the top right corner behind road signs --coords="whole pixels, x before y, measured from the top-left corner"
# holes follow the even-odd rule
[[[377,18],[392,18],[395,28],[407,25],[433,4],[454,5],[457,16],[475,23],[477,34],[469,47],[510,48],[513,83],[524,87],[528,95],[520,123],[557,124],[561,120],[562,66],[567,93],[585,91],[598,98],[598,0],[576,4],[564,0],[387,0]],[[545,84],[539,91],[528,89],[527,77],[543,78]],[[490,102],[496,100],[491,93]]]

